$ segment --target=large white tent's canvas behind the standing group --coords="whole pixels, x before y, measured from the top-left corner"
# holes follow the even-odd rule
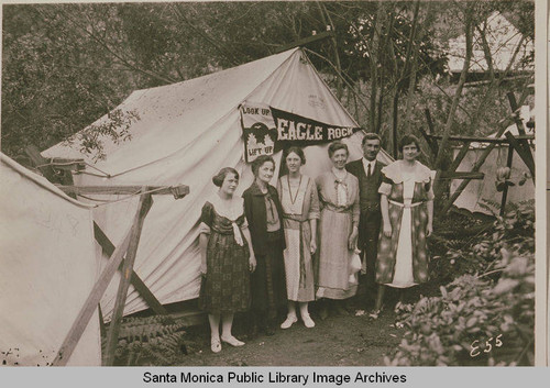
[[[141,120],[130,128],[132,140],[106,142],[105,160],[95,164],[111,175],[75,176],[78,185],[188,185],[180,200],[154,196],[145,219],[135,259],[135,271],[162,303],[196,298],[200,255],[198,219],[205,198],[215,191],[211,177],[224,166],[241,174],[240,195],[253,180],[243,163],[239,106],[254,101],[341,126],[358,126],[334,98],[300,49],[292,49],[235,68],[169,86],[133,92],[119,107],[135,111]],[[100,119],[106,120],[106,118]],[[362,133],[344,142],[350,160],[361,157]],[[304,173],[316,177],[330,166],[327,145],[305,149]],[[46,157],[82,157],[78,144],[58,144]],[[389,162],[386,153],[380,158]],[[277,168],[280,153],[275,155]],[[88,158],[88,163],[92,163]],[[276,171],[277,173],[277,171]],[[136,200],[100,207],[95,220],[114,244],[128,229]],[[112,313],[116,281],[101,301],[106,318]],[[147,308],[131,289],[124,313]]]

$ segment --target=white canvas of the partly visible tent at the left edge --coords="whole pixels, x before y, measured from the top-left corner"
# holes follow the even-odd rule
[[[45,366],[84,306],[99,264],[89,206],[0,154],[0,359]],[[97,312],[67,365],[101,365]]]

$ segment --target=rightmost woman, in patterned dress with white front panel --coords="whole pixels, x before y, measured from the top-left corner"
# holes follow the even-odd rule
[[[399,151],[403,159],[382,169],[378,189],[383,231],[376,258],[378,293],[372,318],[382,310],[385,287],[403,290],[428,280],[428,252],[426,237],[433,230],[433,190],[430,169],[417,160],[420,152],[418,138],[406,135]]]

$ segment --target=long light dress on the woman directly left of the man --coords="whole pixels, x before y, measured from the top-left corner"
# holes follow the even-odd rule
[[[359,180],[349,173],[339,180],[328,171],[317,178],[317,189],[322,210],[316,297],[346,299],[358,291],[356,282],[350,282],[353,250],[348,248],[348,239],[353,223],[359,223]]]

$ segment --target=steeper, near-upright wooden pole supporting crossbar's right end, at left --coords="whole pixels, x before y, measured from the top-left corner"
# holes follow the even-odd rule
[[[146,190],[146,187],[142,188],[142,191]],[[130,287],[130,278],[133,271],[135,254],[138,253],[138,245],[140,244],[141,230],[143,228],[145,217],[147,215],[147,212],[151,209],[152,204],[153,200],[151,193],[141,195],[140,203],[138,206],[138,212],[135,214],[132,226],[127,257],[124,258],[124,264],[122,266],[122,277],[120,279],[119,289],[117,291],[114,310],[112,313],[111,323],[109,325],[109,334],[107,335],[107,350],[103,359],[105,366],[112,366],[114,362],[114,350],[117,348],[117,344],[119,341],[120,320],[122,319],[122,313],[124,312],[128,288]]]

